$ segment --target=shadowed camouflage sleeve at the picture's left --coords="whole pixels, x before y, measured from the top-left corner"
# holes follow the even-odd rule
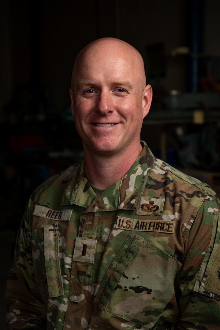
[[[46,329],[46,306],[35,281],[31,252],[33,202],[26,207],[18,232],[14,266],[6,288],[7,329]]]

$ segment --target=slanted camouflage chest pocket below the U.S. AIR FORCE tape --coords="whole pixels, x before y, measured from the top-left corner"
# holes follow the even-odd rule
[[[130,233],[97,292],[100,315],[107,318],[110,313],[151,329],[174,294],[174,277],[181,267],[175,258]]]

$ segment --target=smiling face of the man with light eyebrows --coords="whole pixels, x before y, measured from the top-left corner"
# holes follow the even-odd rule
[[[140,144],[145,86],[132,54],[93,49],[83,55],[70,90],[84,151],[112,154]],[[149,89],[149,87],[148,87]],[[149,98],[149,96],[148,96]]]

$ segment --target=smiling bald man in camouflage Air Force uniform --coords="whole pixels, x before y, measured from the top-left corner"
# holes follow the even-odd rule
[[[219,201],[140,142],[152,99],[140,54],[92,42],[70,96],[85,162],[27,205],[8,329],[219,329]]]

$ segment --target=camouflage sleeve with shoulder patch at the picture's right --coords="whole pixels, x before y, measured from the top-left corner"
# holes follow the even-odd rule
[[[220,328],[219,220],[218,202],[207,196],[186,240],[186,256],[179,277],[179,330]]]

